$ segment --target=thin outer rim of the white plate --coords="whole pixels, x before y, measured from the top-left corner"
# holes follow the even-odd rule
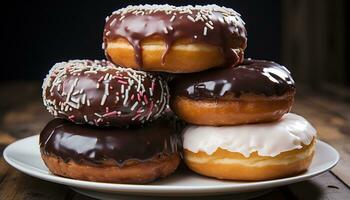
[[[267,181],[256,181],[256,182],[242,182],[242,183],[237,183],[236,185],[213,185],[213,186],[176,186],[176,185],[148,185],[148,184],[118,184],[118,183],[103,183],[103,182],[92,182],[92,181],[82,181],[82,180],[75,180],[75,179],[70,179],[70,178],[65,178],[65,177],[60,177],[52,174],[45,174],[40,171],[28,169],[22,164],[18,164],[18,161],[10,158],[9,157],[9,151],[14,148],[14,146],[18,145],[18,143],[21,143],[25,140],[37,140],[38,141],[39,135],[33,135],[29,136],[20,140],[17,140],[11,144],[9,144],[3,151],[3,157],[5,161],[14,167],[15,169],[39,178],[41,180],[45,181],[50,181],[62,185],[67,185],[70,187],[75,187],[75,188],[83,188],[83,189],[91,189],[91,190],[96,190],[96,191],[109,191],[114,190],[116,193],[127,193],[127,192],[146,192],[146,193],[154,193],[156,189],[156,193],[165,193],[168,191],[171,192],[179,192],[181,191],[182,193],[195,193],[195,192],[225,192],[227,190],[231,190],[231,192],[234,192],[232,190],[240,190],[240,191],[252,191],[252,190],[259,190],[259,189],[265,189],[265,188],[272,188],[276,186],[282,186],[282,185],[287,185],[299,181],[303,181],[306,179],[309,179],[311,177],[320,175],[326,171],[329,171],[332,169],[340,159],[338,151],[333,148],[331,145],[327,144],[326,142],[323,142],[319,139],[317,139],[316,144],[317,145],[324,145],[328,149],[332,151],[333,154],[336,155],[332,163],[327,166],[326,168],[322,170],[318,170],[314,173],[311,174],[301,174],[297,176],[292,176],[292,177],[287,177],[287,178],[282,178],[282,179],[274,179],[274,180],[267,180]],[[317,148],[317,146],[316,146]],[[265,187],[264,187],[265,186]]]

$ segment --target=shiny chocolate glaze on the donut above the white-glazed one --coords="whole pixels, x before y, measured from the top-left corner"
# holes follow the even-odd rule
[[[250,59],[238,66],[178,75],[169,87],[172,97],[191,99],[220,98],[228,93],[235,97],[246,93],[281,96],[295,89],[294,80],[285,67],[275,62]]]

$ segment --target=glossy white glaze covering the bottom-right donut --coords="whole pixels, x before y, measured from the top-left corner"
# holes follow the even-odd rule
[[[276,156],[282,152],[309,145],[316,130],[303,117],[289,113],[272,123],[240,126],[194,126],[183,131],[183,148],[208,155],[218,148],[238,152],[245,157],[257,152],[260,156]]]

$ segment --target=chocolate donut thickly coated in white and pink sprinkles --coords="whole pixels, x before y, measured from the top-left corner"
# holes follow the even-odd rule
[[[44,105],[55,117],[95,126],[124,127],[155,120],[169,101],[161,76],[108,61],[57,63],[42,88]]]

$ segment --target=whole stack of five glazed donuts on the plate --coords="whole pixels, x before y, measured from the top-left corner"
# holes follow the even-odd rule
[[[294,81],[277,63],[244,59],[234,10],[128,6],[106,18],[102,46],[108,61],[57,63],[44,80],[55,119],[40,149],[52,173],[146,183],[173,173],[181,152],[194,172],[219,179],[273,179],[310,165],[316,131],[288,114]],[[172,113],[186,123],[182,134]]]

